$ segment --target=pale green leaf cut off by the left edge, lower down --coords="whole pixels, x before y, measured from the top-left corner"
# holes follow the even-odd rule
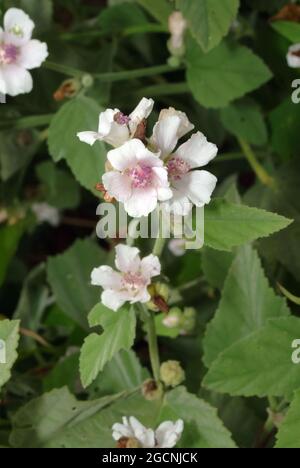
[[[19,320],[0,321],[0,389],[10,379],[18,357],[19,325]]]

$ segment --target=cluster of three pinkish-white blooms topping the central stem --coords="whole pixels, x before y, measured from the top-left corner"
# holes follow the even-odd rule
[[[148,216],[158,203],[186,216],[193,205],[203,207],[211,200],[217,179],[199,168],[216,157],[218,148],[201,132],[178,145],[194,125],[173,108],[161,111],[152,136],[146,138],[153,106],[152,99],[143,98],[130,115],[107,109],[100,114],[98,132],[80,132],[78,137],[90,145],[100,140],[114,147],[102,182],[106,194],[123,203],[130,216]]]

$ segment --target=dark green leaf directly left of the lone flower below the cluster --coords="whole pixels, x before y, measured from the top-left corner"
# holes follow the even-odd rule
[[[87,314],[99,301],[99,289],[91,286],[93,268],[102,265],[105,253],[89,239],[77,240],[63,254],[47,262],[48,281],[60,308],[88,329]]]

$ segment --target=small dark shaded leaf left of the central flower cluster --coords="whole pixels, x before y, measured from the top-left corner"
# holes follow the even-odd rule
[[[66,171],[58,169],[52,162],[46,161],[37,166],[36,173],[43,184],[43,195],[49,205],[60,210],[73,209],[79,205],[78,184]]]

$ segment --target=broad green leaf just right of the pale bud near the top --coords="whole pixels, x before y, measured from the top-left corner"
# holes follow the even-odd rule
[[[204,107],[226,107],[263,84],[272,74],[250,49],[222,42],[204,54],[190,40],[187,51],[187,80],[195,99]]]

